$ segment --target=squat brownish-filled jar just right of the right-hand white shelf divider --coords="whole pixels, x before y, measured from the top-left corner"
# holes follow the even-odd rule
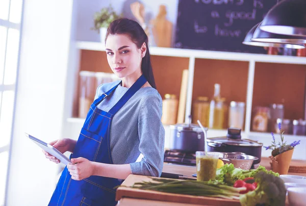
[[[268,107],[256,107],[252,123],[253,131],[267,132],[269,118],[270,109]]]

